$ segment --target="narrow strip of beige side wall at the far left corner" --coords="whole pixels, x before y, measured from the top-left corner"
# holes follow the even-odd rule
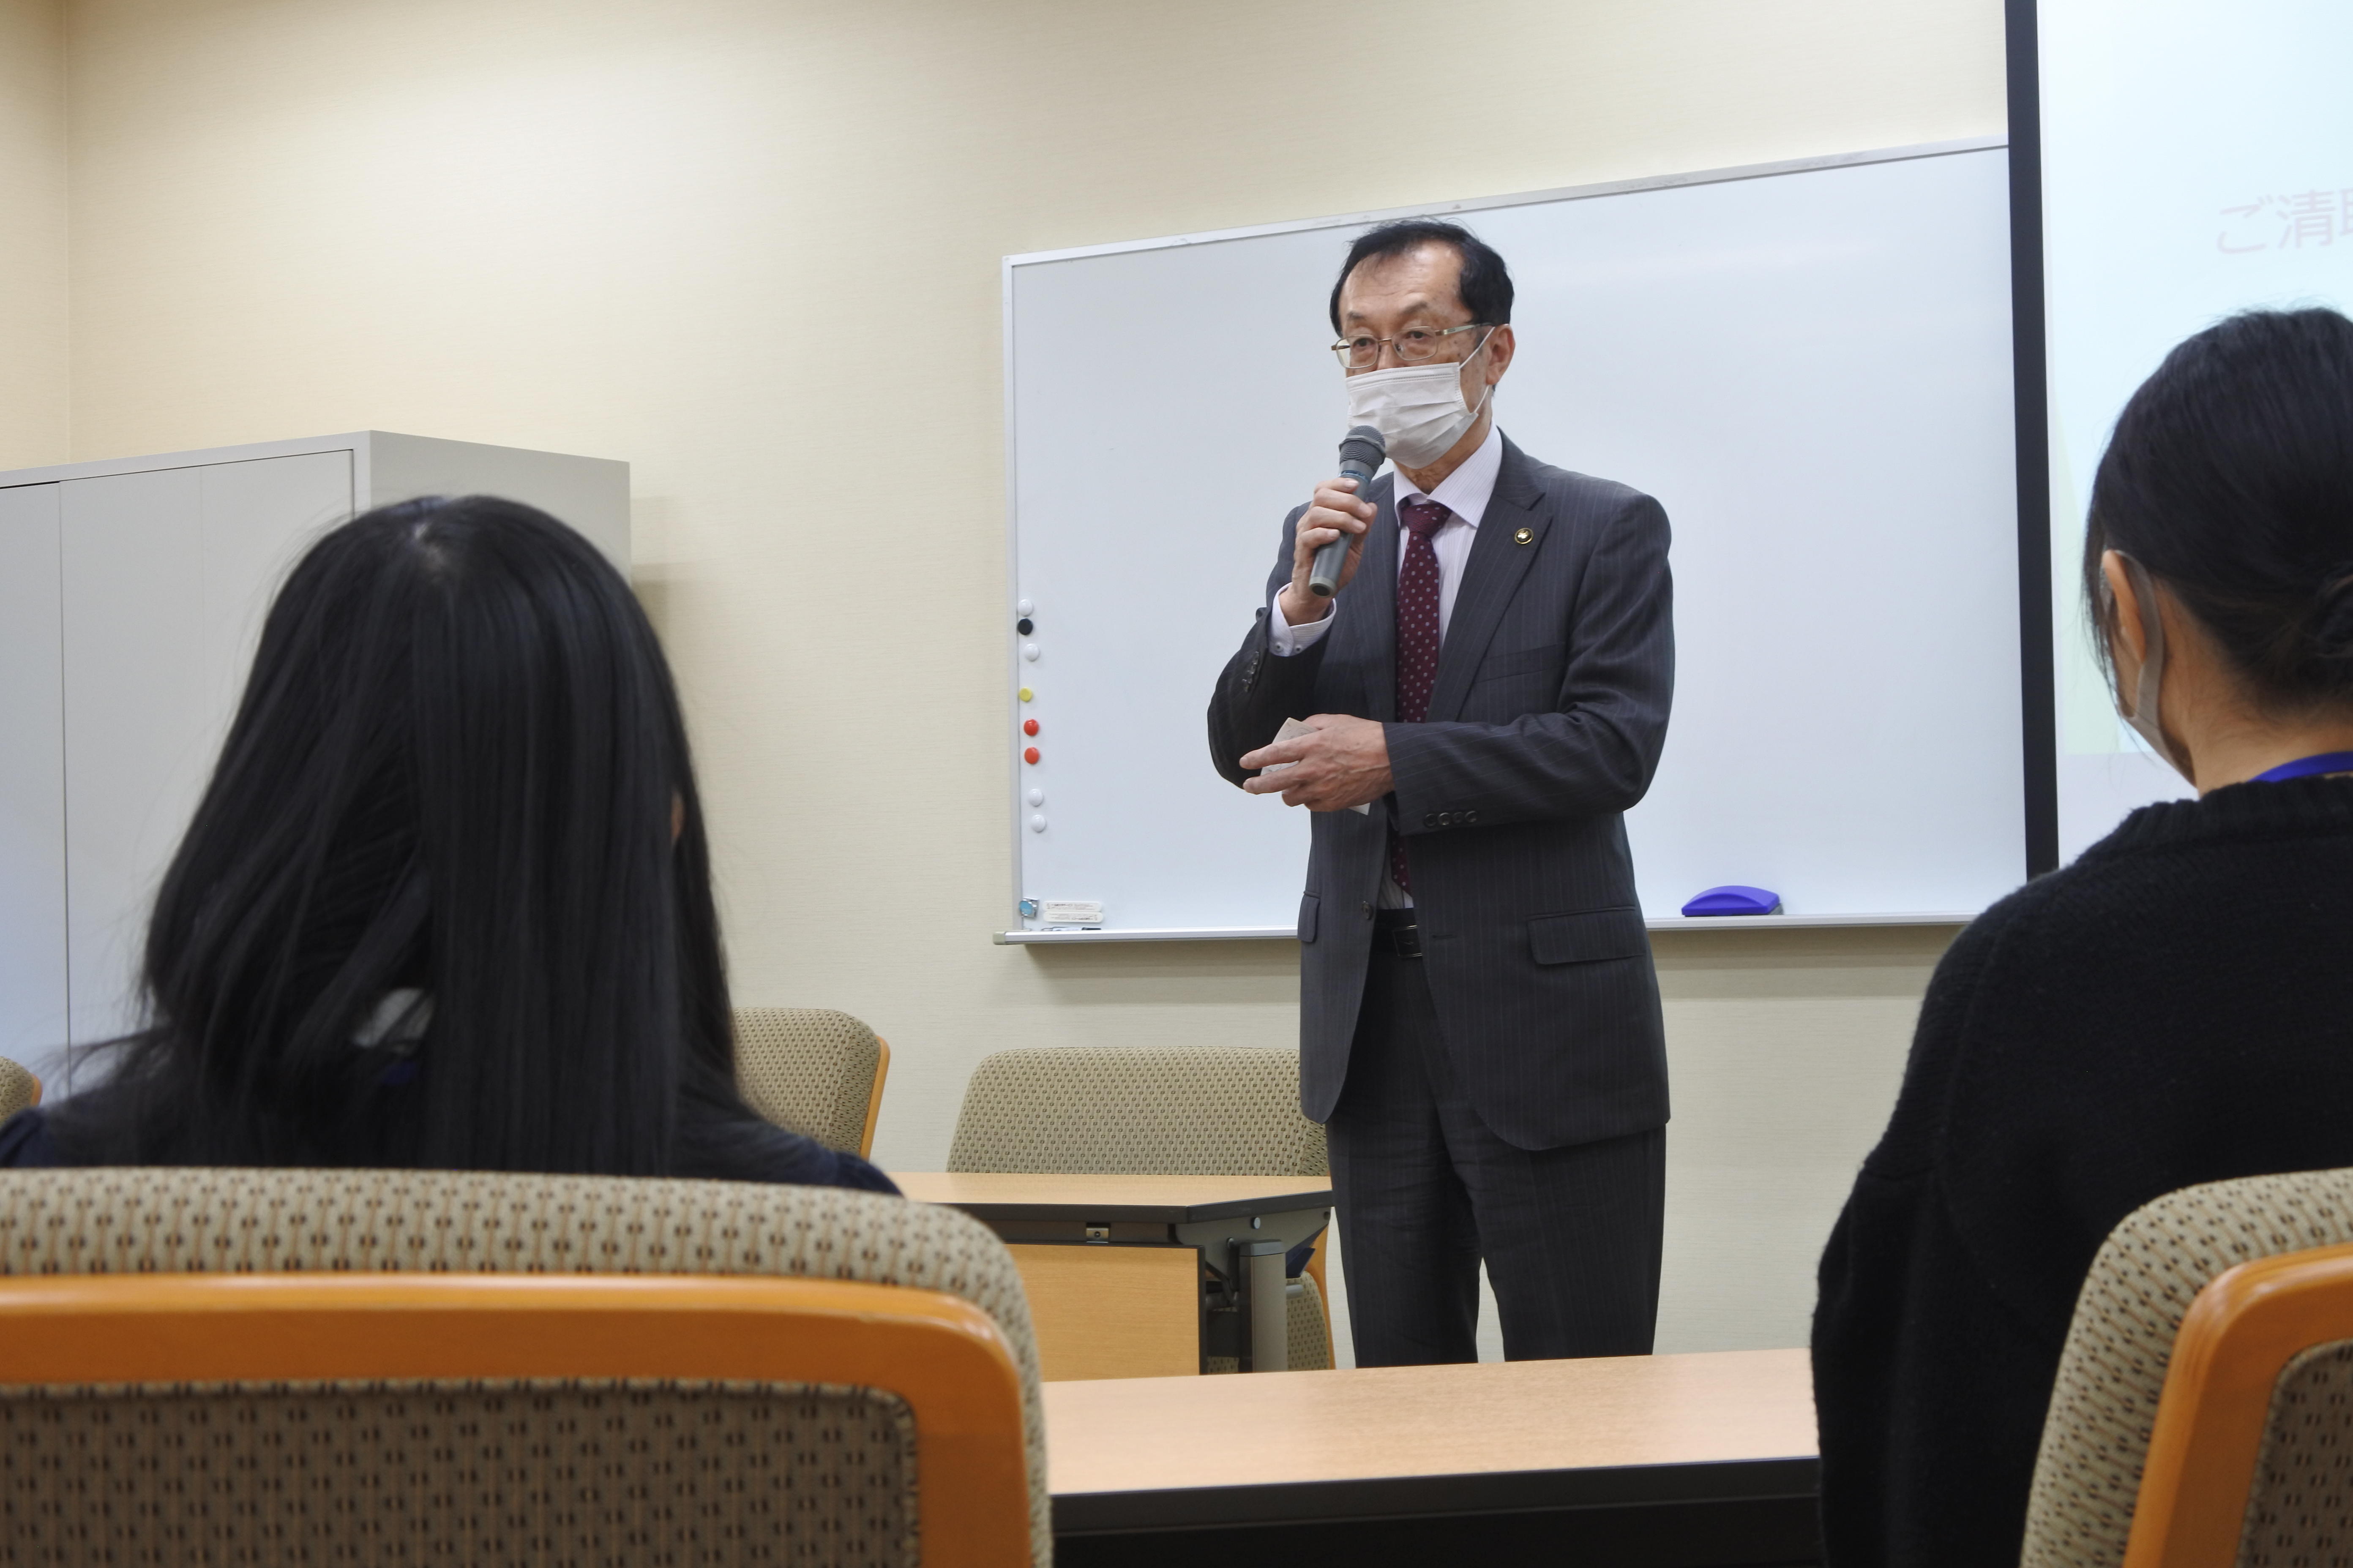
[[[0,470],[64,463],[66,7],[0,0]]]

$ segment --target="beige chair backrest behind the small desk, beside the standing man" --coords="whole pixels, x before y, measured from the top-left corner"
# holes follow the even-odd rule
[[[1327,1175],[1299,1114],[1299,1051],[1061,1046],[998,1051],[965,1088],[951,1171]]]

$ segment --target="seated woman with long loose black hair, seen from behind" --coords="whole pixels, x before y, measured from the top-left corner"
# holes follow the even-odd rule
[[[146,1027],[7,1166],[419,1166],[892,1192],[755,1117],[654,628],[513,501],[294,567],[155,896]]]

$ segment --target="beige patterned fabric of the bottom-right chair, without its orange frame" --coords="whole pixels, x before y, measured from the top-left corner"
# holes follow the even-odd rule
[[[2092,1260],[2059,1356],[2026,1505],[2024,1568],[2115,1568],[2125,1561],[2174,1335],[2207,1281],[2252,1258],[2344,1244],[2353,1244],[2353,1171],[2207,1182],[2125,1215]],[[2327,1375],[2337,1373],[2313,1373]],[[2275,1429],[2287,1408],[2282,1399],[2285,1380],[2273,1401]],[[2344,1443],[2344,1432],[2329,1439]],[[2266,1446],[2271,1441],[2266,1436]],[[2337,1561],[2249,1556],[2249,1549],[2252,1537],[2240,1563]]]

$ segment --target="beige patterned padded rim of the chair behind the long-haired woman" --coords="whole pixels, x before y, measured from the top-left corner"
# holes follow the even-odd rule
[[[1031,1554],[1052,1556],[1038,1347],[976,1220],[835,1187],[466,1171],[0,1171],[0,1274],[727,1274],[941,1291],[1021,1382]],[[0,1488],[5,1493],[5,1488]]]

